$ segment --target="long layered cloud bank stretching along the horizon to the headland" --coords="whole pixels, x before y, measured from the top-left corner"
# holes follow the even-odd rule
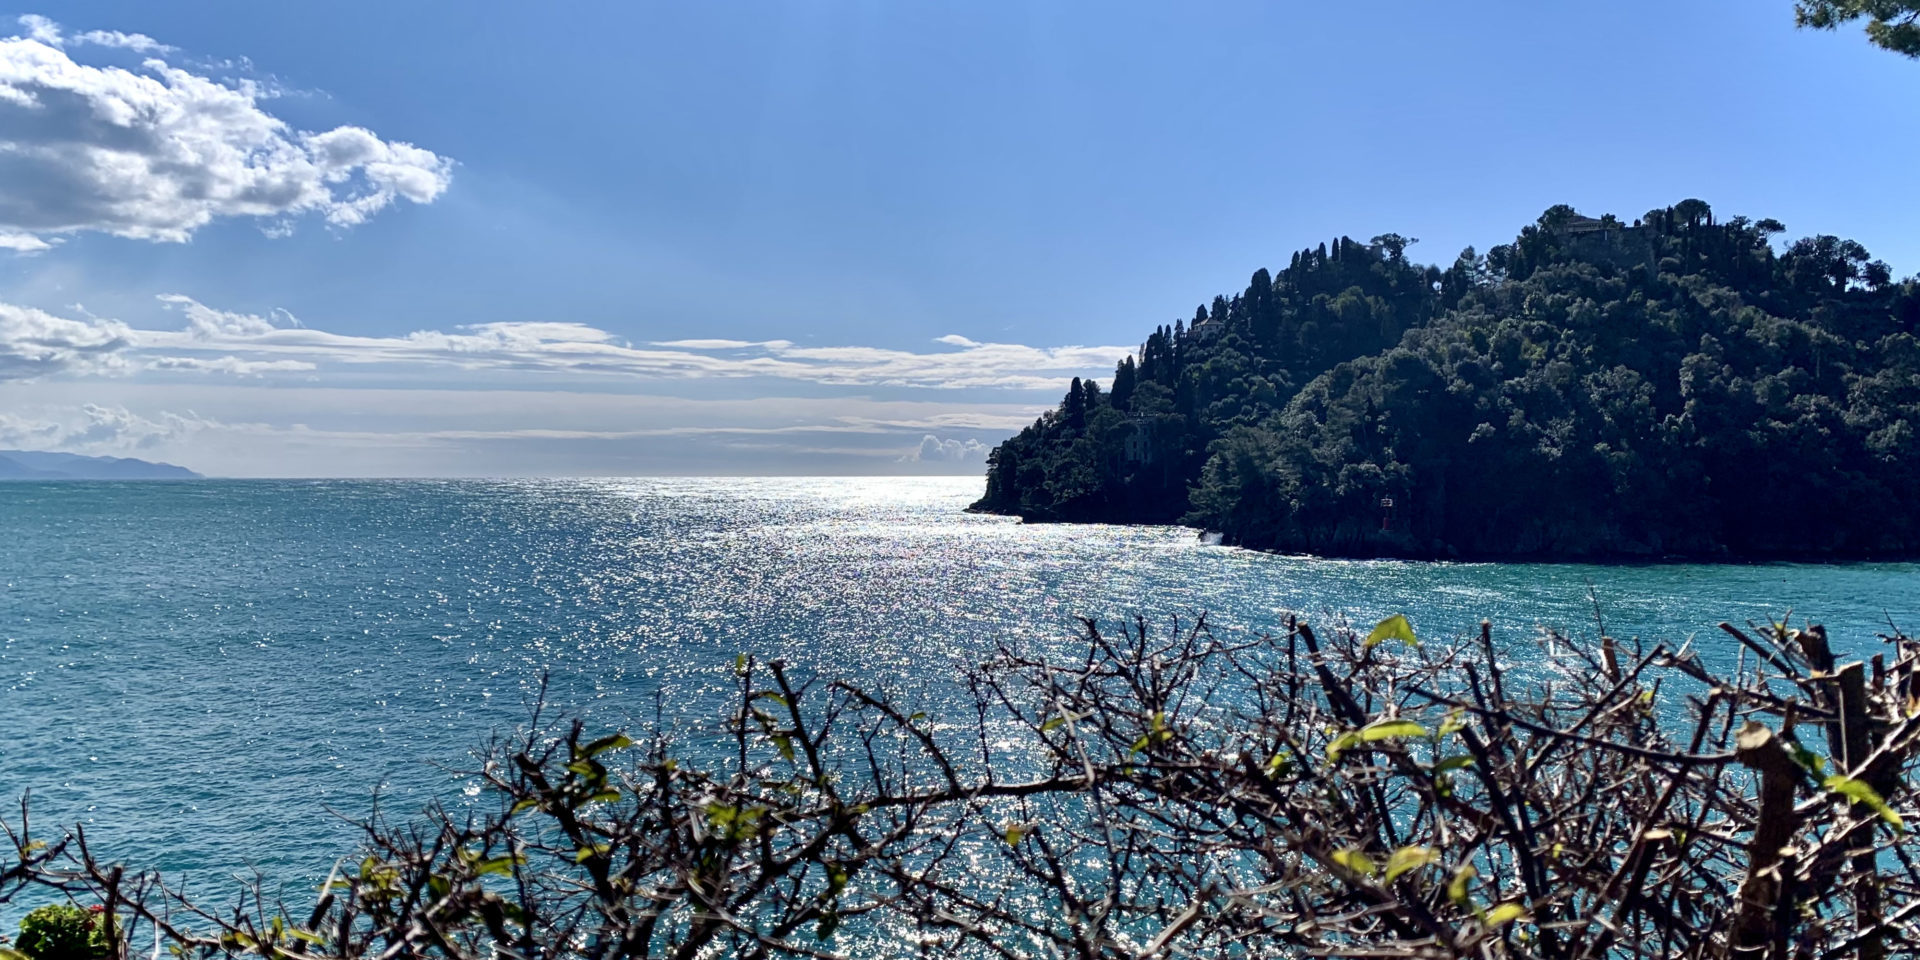
[[[157,301],[175,324],[0,303],[0,447],[273,476],[972,472],[1129,353],[632,344],[570,321],[365,336]],[[701,386],[726,382],[756,386]]]

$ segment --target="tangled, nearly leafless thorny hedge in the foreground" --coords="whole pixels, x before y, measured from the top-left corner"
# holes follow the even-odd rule
[[[1722,630],[1726,676],[1486,624],[1087,622],[1083,657],[1002,649],[937,720],[743,657],[724,735],[536,714],[480,756],[497,808],[369,820],[298,910],[198,906],[81,833],[35,845],[25,808],[0,900],[106,904],[119,952],[267,958],[1914,952],[1920,645]]]

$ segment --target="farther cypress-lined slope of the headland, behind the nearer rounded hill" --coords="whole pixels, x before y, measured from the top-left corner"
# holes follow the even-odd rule
[[[1240,296],[1213,298],[1192,326],[1162,326],[1108,392],[1075,380],[1058,411],[993,451],[979,509],[1033,520],[1171,522],[1208,444],[1269,420],[1313,376],[1375,353],[1432,319],[1436,271],[1407,240],[1350,238],[1304,250]]]

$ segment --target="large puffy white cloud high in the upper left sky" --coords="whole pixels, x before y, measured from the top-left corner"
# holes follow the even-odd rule
[[[451,159],[361,127],[296,131],[261,108],[271,90],[169,65],[152,36],[19,23],[0,38],[0,248],[81,230],[180,242],[219,217],[351,227],[396,200],[430,204],[451,180]],[[69,54],[83,44],[148,60],[88,65]]]

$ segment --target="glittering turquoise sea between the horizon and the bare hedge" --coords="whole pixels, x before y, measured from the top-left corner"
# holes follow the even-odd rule
[[[741,651],[937,712],[952,664],[1075,616],[1288,611],[1427,636],[1482,616],[1724,653],[1720,620],[1920,624],[1914,564],[1571,566],[1271,557],[1179,528],[1023,526],[977,480],[136,482],[0,486],[0,797],[186,876],[313,877],[334,818],[430,797],[553,701],[697,716]]]

